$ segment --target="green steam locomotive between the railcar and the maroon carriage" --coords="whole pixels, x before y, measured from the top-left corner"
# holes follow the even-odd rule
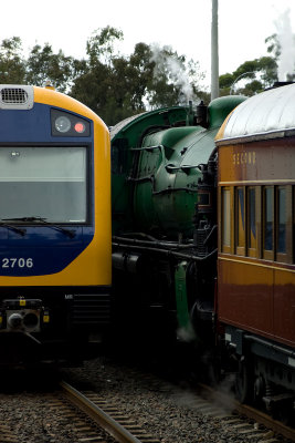
[[[200,346],[213,341],[214,137],[242,101],[161,109],[112,128],[113,272],[124,329],[145,329],[158,342],[206,330]]]

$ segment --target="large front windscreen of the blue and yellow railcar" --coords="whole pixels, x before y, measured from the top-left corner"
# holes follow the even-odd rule
[[[1,219],[42,217],[49,223],[85,223],[86,147],[1,147],[0,188]]]

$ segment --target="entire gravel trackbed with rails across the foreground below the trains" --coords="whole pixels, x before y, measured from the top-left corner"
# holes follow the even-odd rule
[[[105,362],[72,375],[43,394],[0,394],[0,443],[295,442],[295,430],[203,385]]]

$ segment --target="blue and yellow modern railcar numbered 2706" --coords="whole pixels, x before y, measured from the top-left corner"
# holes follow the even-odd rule
[[[0,363],[83,358],[109,320],[108,130],[23,85],[0,85]]]

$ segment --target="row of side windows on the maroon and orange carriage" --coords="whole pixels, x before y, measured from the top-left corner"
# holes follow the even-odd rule
[[[295,186],[221,188],[221,251],[295,262]]]

